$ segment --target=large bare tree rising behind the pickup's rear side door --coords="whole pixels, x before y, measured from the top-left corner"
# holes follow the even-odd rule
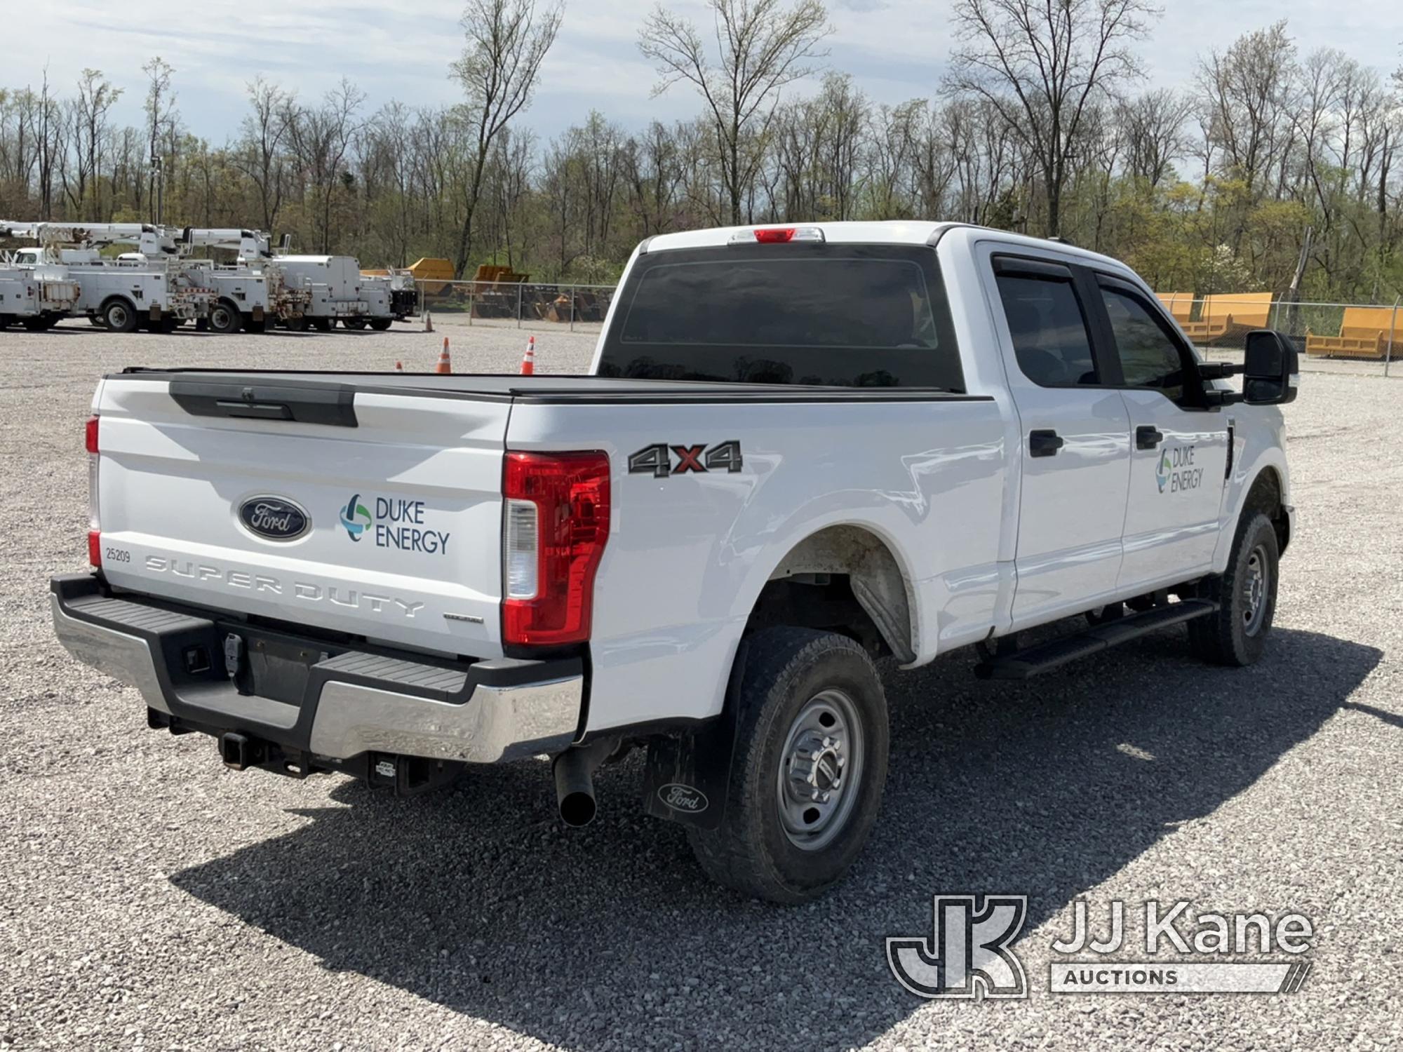
[[[1146,0],[955,0],[962,45],[947,88],[988,101],[1041,167],[1047,234],[1062,222],[1062,189],[1087,107],[1136,76],[1127,49],[1159,14]]]

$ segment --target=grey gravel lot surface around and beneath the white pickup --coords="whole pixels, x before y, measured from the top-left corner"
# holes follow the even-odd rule
[[[441,328],[460,370],[515,369],[525,342]],[[1179,630],[1028,686],[962,654],[885,669],[881,822],[850,879],[784,910],[704,882],[682,830],[638,814],[637,760],[577,832],[542,763],[418,801],[236,774],[53,641],[101,370],[412,369],[438,344],[0,334],[0,1048],[1403,1045],[1403,382],[1313,375],[1289,408],[1299,530],[1261,665],[1205,668]],[[537,331],[543,370],[591,345]],[[1028,895],[1028,1000],[894,982],[884,937],[929,933],[936,892]],[[1315,968],[1292,996],[1055,996],[1048,947],[1082,898],[1097,919],[1299,910]]]

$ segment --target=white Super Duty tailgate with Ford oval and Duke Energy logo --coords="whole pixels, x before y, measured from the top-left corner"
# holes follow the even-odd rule
[[[107,579],[369,640],[498,656],[509,398],[334,383],[299,394],[297,382],[223,376],[233,379],[104,382]]]

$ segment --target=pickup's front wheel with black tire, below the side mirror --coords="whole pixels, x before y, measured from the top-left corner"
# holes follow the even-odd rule
[[[1188,645],[1215,665],[1242,668],[1261,658],[1277,612],[1280,548],[1271,519],[1247,511],[1237,525],[1228,571],[1201,581],[1198,595],[1219,603],[1216,613],[1188,623]]]

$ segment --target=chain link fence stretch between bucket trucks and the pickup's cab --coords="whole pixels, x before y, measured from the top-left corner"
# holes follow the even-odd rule
[[[567,328],[599,332],[613,285],[419,281],[419,313],[464,318],[469,325]]]

